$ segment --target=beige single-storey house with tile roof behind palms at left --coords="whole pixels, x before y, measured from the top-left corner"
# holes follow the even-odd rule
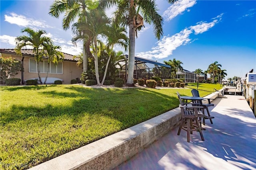
[[[16,55],[14,49],[0,49],[1,57],[12,57],[21,61],[24,72],[20,72],[15,78],[20,78],[22,84],[28,79],[38,78],[37,64],[34,59],[34,53],[32,49],[22,49],[22,56]],[[73,59],[73,55],[64,54],[64,60],[55,66],[50,63],[48,78],[49,80],[62,79],[63,84],[70,84],[72,79],[80,78],[83,72],[82,68],[76,65],[77,59]],[[42,63],[40,63],[41,77],[46,77],[48,68],[48,57],[43,57]],[[47,78],[47,79],[48,79]],[[44,83],[44,82],[43,82]]]

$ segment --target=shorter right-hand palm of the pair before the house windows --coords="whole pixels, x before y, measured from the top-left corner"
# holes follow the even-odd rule
[[[48,68],[47,68],[46,78],[44,80],[44,84],[46,84],[50,62],[54,63],[54,65],[56,66],[58,62],[63,61],[64,55],[62,52],[58,51],[61,49],[60,46],[48,44],[48,45],[45,45],[44,49],[45,49],[46,55],[48,56]]]

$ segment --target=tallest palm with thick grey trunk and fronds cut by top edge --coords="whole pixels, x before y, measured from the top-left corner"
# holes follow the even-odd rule
[[[177,0],[168,0],[174,3]],[[117,10],[114,12],[114,21],[129,27],[129,58],[128,58],[128,79],[127,84],[133,83],[134,62],[135,62],[135,37],[137,31],[142,29],[144,21],[153,23],[154,35],[159,40],[163,35],[163,18],[157,12],[155,0],[118,0]],[[140,16],[140,14],[142,16]]]

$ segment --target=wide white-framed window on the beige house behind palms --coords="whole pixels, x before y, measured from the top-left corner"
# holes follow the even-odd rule
[[[47,73],[48,62],[46,60],[39,63],[40,72]],[[29,59],[29,72],[37,72],[37,65],[35,59]],[[52,74],[63,74],[63,64],[58,63],[57,66],[54,63],[50,63],[49,73]]]

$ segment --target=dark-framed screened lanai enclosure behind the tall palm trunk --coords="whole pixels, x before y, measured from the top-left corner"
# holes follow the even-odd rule
[[[123,65],[122,69],[119,72],[119,77],[123,78],[126,81],[128,75],[128,55],[125,56],[125,59],[119,61],[120,65]],[[152,76],[160,77],[162,78],[162,80],[170,78],[171,66],[159,63],[157,61],[135,56],[133,77],[136,79],[150,79]]]

